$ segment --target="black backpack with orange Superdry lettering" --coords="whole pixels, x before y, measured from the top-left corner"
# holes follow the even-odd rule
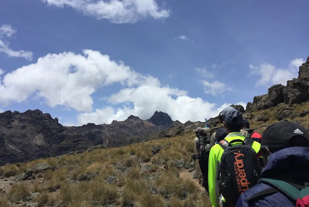
[[[231,143],[235,142],[241,144],[232,146]],[[229,143],[223,139],[218,142],[224,149],[217,178],[219,191],[229,205],[235,206],[239,196],[260,179],[262,167],[255,159],[256,152],[251,147],[253,142],[248,137],[243,141],[235,139]]]

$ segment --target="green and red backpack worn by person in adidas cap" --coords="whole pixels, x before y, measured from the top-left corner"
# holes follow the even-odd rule
[[[294,201],[296,207],[309,207],[309,187],[290,184],[283,180],[261,178],[258,183],[265,183],[271,186],[261,192],[258,192],[247,199],[250,201],[256,197],[267,195],[269,193],[281,192],[287,198]]]

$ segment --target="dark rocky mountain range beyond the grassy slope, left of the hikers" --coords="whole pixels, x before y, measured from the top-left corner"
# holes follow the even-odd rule
[[[125,140],[146,137],[167,129],[173,121],[166,113],[160,113],[154,117],[159,117],[161,125],[129,116],[125,121],[113,121],[109,125],[88,123],[66,127],[59,124],[57,118],[53,119],[50,114],[40,110],[23,113],[6,111],[0,113],[0,166],[57,156],[100,144],[123,146],[127,144]]]

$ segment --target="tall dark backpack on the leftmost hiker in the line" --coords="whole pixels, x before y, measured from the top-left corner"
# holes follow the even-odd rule
[[[212,131],[209,127],[204,127],[200,129],[200,131],[198,132],[198,140],[200,142],[201,158],[204,160],[207,160],[209,156],[211,133]]]

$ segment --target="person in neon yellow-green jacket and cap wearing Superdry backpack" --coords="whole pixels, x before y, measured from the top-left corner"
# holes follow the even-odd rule
[[[209,195],[213,207],[220,206],[219,190],[223,207],[235,206],[241,192],[257,183],[261,171],[260,163],[254,159],[260,143],[240,133],[243,128],[241,112],[227,107],[223,114],[228,135],[211,148],[208,163]]]

